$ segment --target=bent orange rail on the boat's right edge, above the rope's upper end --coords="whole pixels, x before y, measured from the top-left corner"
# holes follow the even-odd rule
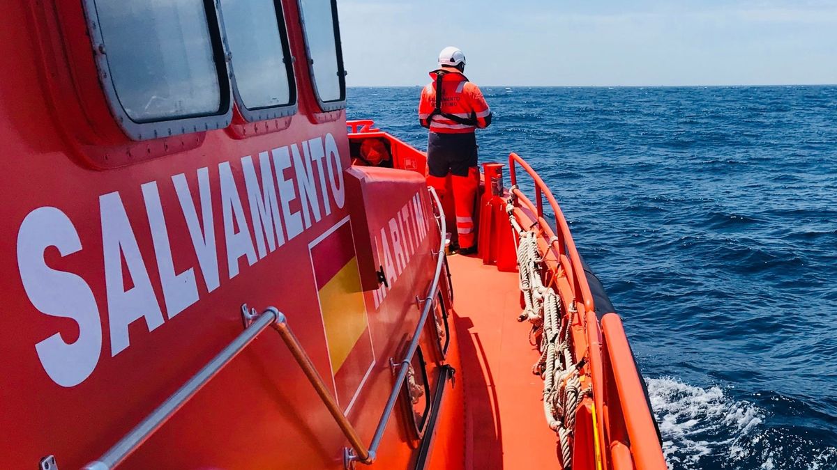
[[[541,176],[538,176],[537,172],[529,166],[526,161],[524,161],[521,156],[518,156],[516,153],[511,152],[509,154],[509,173],[511,176],[511,184],[513,186],[517,185],[517,175],[515,172],[515,163],[520,165],[526,173],[531,176],[532,181],[535,183],[535,196],[537,197],[537,217],[543,217],[543,202],[542,196],[547,197],[547,201],[549,205],[552,207],[552,212],[555,213],[555,226],[557,228],[558,234],[560,234],[560,238],[556,237],[556,233],[552,232],[552,227],[549,227],[549,224],[546,224],[546,227],[542,227],[545,232],[551,237],[549,242],[550,245],[554,245],[558,243],[558,253],[566,254],[567,258],[573,267],[573,271],[571,274],[573,280],[573,290],[576,291],[575,294],[579,295],[584,303],[584,308],[587,310],[593,310],[593,294],[590,292],[590,286],[587,282],[587,277],[584,275],[584,268],[581,263],[581,258],[578,256],[578,250],[576,249],[575,242],[573,242],[573,235],[570,233],[570,227],[567,224],[567,219],[564,218],[564,214],[561,211],[561,207],[558,207],[558,203],[555,200],[555,197],[552,196],[552,192],[549,191],[549,187],[543,180]],[[519,189],[513,189],[513,194],[517,197],[525,197],[523,192]],[[527,200],[528,201],[528,200]],[[566,253],[565,253],[566,251]]]

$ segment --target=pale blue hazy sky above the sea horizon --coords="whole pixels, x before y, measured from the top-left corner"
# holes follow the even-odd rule
[[[348,86],[837,84],[837,0],[338,0]]]

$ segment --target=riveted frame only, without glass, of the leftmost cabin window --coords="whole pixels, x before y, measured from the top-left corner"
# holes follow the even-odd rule
[[[222,37],[223,28],[219,22],[218,8],[215,7],[212,0],[203,0],[201,3],[203,3],[203,9],[206,12],[209,40],[213,50],[213,63],[218,77],[218,110],[203,115],[184,115],[169,119],[157,118],[139,121],[131,119],[116,91],[116,84],[110,73],[110,64],[107,59],[107,43],[102,37],[96,1],[82,0],[81,2],[85,10],[87,32],[90,35],[96,71],[99,74],[99,83],[105,93],[105,101],[110,113],[116,118],[116,123],[128,138],[137,141],[152,140],[171,137],[172,135],[217,130],[227,127],[232,122],[233,101],[230,90],[229,64],[227,64],[229,53]]]

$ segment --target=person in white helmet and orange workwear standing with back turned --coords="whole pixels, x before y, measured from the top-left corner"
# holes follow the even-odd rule
[[[460,49],[442,49],[439,68],[430,72],[430,79],[419,100],[419,122],[430,130],[428,182],[441,194],[451,175],[459,253],[475,253],[474,202],[480,170],[474,131],[491,124],[491,110],[480,88],[465,77],[465,54]]]

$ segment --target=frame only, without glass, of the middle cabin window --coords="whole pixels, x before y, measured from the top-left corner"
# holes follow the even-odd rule
[[[296,58],[290,51],[290,38],[288,38],[288,25],[285,23],[285,11],[283,10],[282,0],[272,0],[273,9],[276,13],[276,26],[279,28],[280,41],[282,43],[282,54],[285,55],[285,72],[288,76],[288,93],[290,95],[290,102],[287,105],[262,106],[260,108],[248,108],[244,105],[244,100],[239,93],[239,84],[235,76],[235,58],[232,50],[229,48],[229,38],[227,36],[227,23],[223,21],[223,4],[218,2],[218,18],[220,18],[223,43],[226,49],[230,52],[227,57],[227,67],[229,68],[230,82],[233,89],[233,98],[239,113],[247,122],[258,122],[260,120],[278,119],[290,115],[295,115],[299,108],[298,91],[296,88],[296,77],[294,74],[294,64]]]

